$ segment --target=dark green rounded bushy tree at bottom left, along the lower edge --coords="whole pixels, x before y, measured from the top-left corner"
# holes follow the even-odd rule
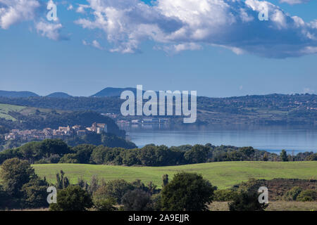
[[[80,186],[68,186],[57,191],[57,203],[49,205],[51,211],[86,211],[92,207],[92,198]]]

